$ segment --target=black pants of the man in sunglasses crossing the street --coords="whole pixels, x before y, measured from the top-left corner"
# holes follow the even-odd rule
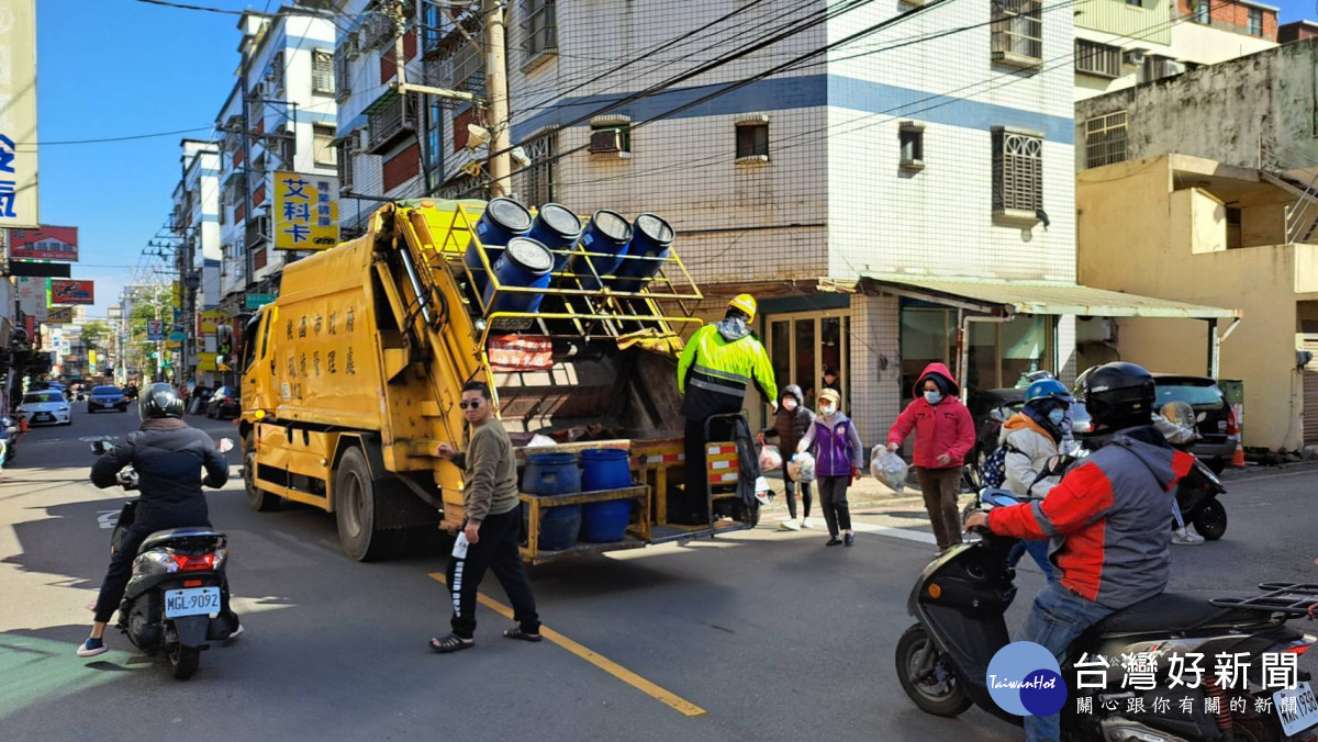
[[[535,614],[535,596],[526,577],[526,564],[517,550],[522,532],[522,509],[514,507],[481,522],[480,540],[467,547],[460,557],[455,548],[448,559],[448,589],[453,597],[453,634],[471,639],[476,634],[476,593],[486,569],[493,569],[498,584],[513,604],[513,618],[527,634],[540,633]]]

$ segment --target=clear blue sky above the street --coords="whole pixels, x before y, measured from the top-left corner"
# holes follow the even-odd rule
[[[1281,21],[1318,20],[1314,3],[1281,0]],[[231,11],[281,5],[190,4]],[[236,25],[237,16],[136,0],[37,0],[41,141],[210,127],[239,65]],[[169,216],[181,175],[179,140],[207,133],[41,148],[41,219],[80,228],[82,264],[74,277],[96,281],[92,314],[104,316]]]

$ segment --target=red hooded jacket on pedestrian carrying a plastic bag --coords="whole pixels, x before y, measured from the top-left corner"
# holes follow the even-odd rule
[[[931,405],[924,398],[924,380],[937,376],[945,389],[942,401]],[[925,469],[952,469],[965,464],[966,455],[975,445],[975,423],[970,418],[970,410],[957,398],[961,387],[952,378],[952,372],[942,364],[929,364],[915,382],[915,401],[898,415],[898,422],[888,431],[888,443],[900,444],[915,430],[915,456],[916,467]],[[946,453],[952,461],[938,463],[938,456]]]

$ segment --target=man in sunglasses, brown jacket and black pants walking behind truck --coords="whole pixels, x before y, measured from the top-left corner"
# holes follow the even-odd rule
[[[522,517],[517,498],[517,459],[513,442],[503,424],[494,419],[490,387],[480,381],[463,386],[459,405],[471,424],[467,453],[447,443],[439,444],[439,456],[463,469],[463,509],[467,522],[453,544],[448,560],[448,589],[453,596],[453,631],[431,639],[430,647],[440,654],[474,646],[476,592],[486,569],[493,569],[500,585],[513,604],[518,626],[503,631],[509,639],[540,641],[540,621],[535,614],[535,596],[526,577],[526,565],[518,552]]]

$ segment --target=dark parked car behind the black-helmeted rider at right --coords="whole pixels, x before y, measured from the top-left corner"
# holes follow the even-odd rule
[[[1078,394],[1083,389],[1087,374],[1089,370],[1079,374],[1073,391]],[[1155,403],[1157,410],[1170,402],[1185,402],[1194,410],[1199,440],[1190,447],[1190,453],[1214,473],[1222,473],[1235,456],[1240,427],[1235,419],[1235,410],[1231,409],[1218,382],[1206,376],[1155,373],[1153,384],[1157,387]],[[1093,423],[1083,402],[1077,402],[1072,407],[1072,426],[1075,434],[1090,431]]]

